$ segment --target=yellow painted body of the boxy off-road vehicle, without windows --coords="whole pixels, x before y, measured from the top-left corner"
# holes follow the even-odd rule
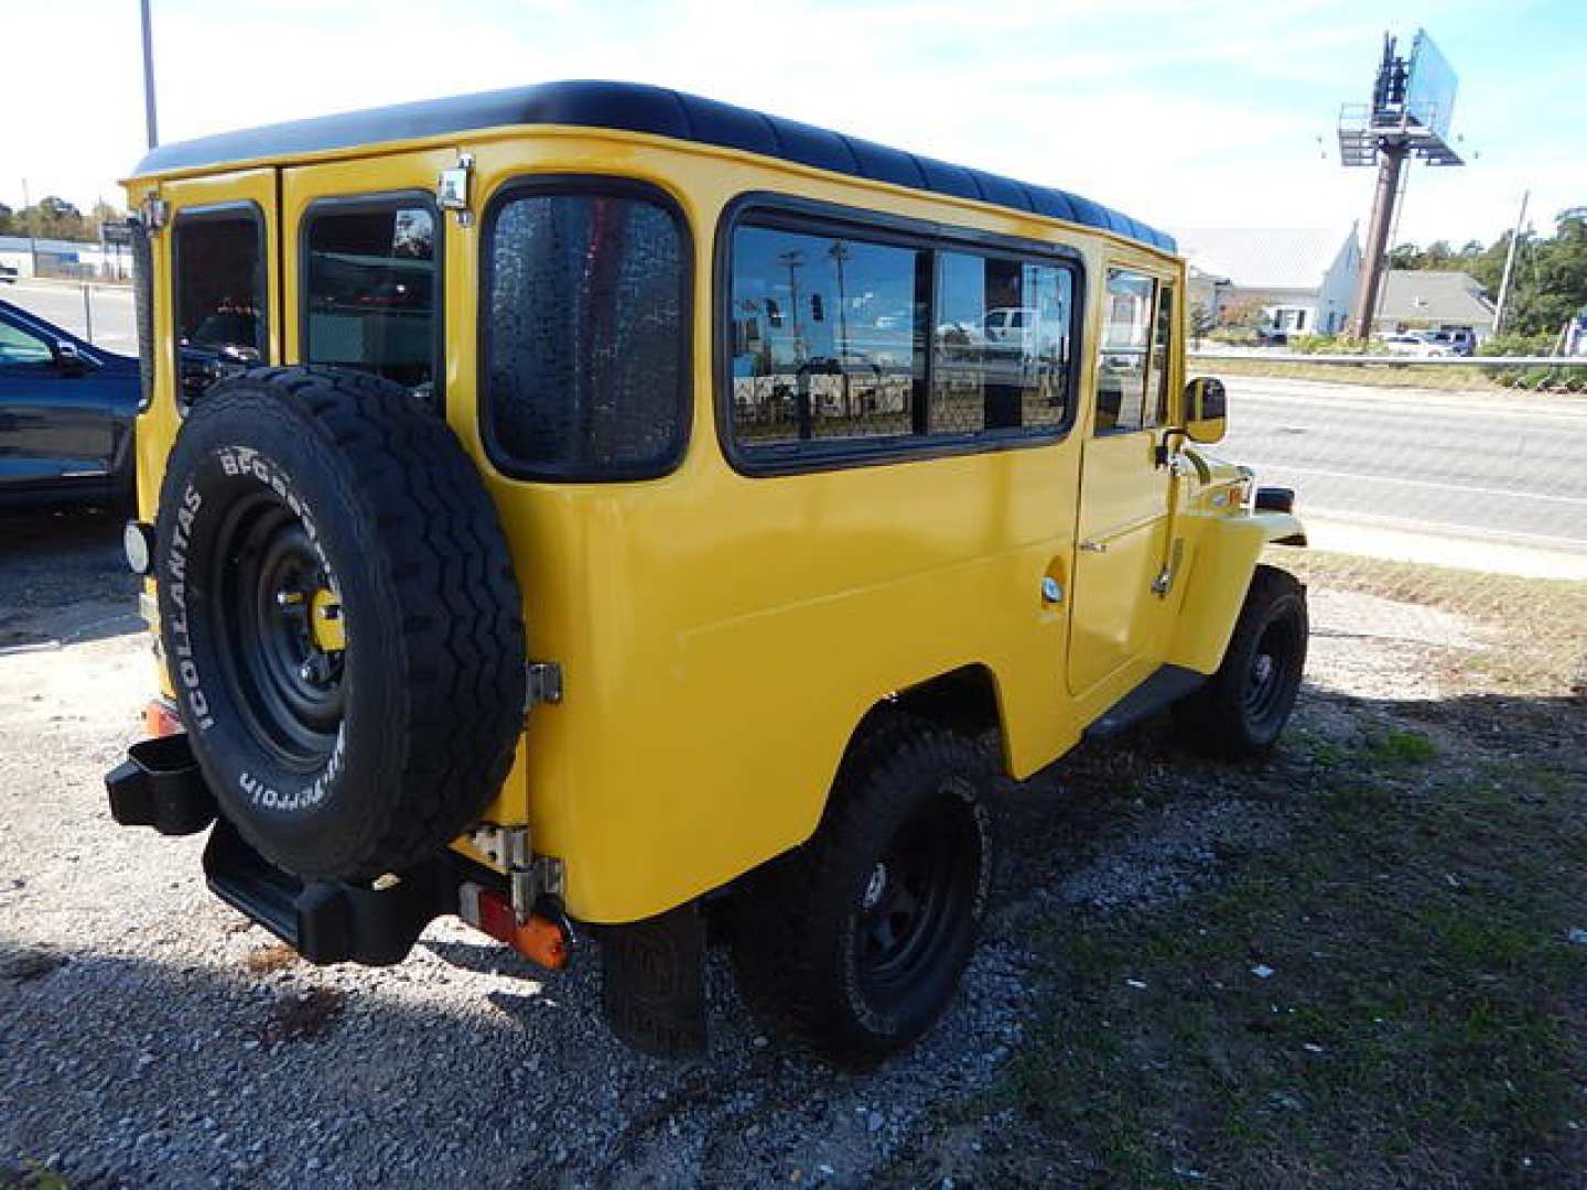
[[[1027,776],[1159,665],[1217,666],[1262,539],[1292,528],[1232,498],[1243,476],[1173,478],[1162,432],[1093,438],[1103,286],[1119,263],[1176,286],[1184,262],[1136,243],[968,200],[736,151],[590,129],[495,129],[376,154],[135,178],[132,205],[251,198],[270,232],[271,360],[302,359],[298,221],[311,200],[435,186],[475,157],[478,214],[533,173],[617,175],[670,192],[694,262],[694,416],[670,476],[524,482],[497,473],[476,405],[478,221],[444,216],[446,416],[495,500],[524,590],[530,654],[565,698],[536,708],[486,817],[527,823],[565,865],[579,919],[625,922],[720,887],[814,830],[855,725],[892,692],[966,665],[995,682],[1006,768]],[[774,192],[1059,243],[1089,308],[1073,430],[1027,449],[781,478],[725,460],[713,392],[713,254],[724,206]],[[146,519],[176,435],[170,238],[156,238],[156,400],[138,424]],[[1182,335],[1170,390],[1184,382]],[[1222,506],[1214,508],[1217,493]],[[1106,538],[1106,552],[1076,552]],[[1178,551],[1176,551],[1178,543]],[[1149,584],[1181,559],[1166,598]],[[1043,578],[1065,589],[1046,603]],[[467,844],[459,843],[467,849]]]

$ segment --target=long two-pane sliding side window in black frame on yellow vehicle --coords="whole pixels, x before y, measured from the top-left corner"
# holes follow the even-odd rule
[[[771,211],[733,227],[728,282],[727,428],[744,470],[995,449],[1068,425],[1066,265]]]

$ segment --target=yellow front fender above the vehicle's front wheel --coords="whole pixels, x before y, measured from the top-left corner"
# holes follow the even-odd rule
[[[1206,517],[1168,644],[1170,665],[1197,673],[1214,673],[1222,665],[1257,559],[1270,543],[1305,546],[1300,517],[1292,512]]]

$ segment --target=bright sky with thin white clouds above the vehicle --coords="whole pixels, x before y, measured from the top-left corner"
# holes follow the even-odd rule
[[[138,0],[13,5],[0,202],[119,202],[144,149]],[[152,0],[162,141],[557,78],[692,90],[1076,190],[1149,224],[1339,227],[1382,35],[1460,76],[1463,168],[1414,167],[1397,243],[1587,205],[1581,0]],[[32,113],[33,117],[29,117]]]

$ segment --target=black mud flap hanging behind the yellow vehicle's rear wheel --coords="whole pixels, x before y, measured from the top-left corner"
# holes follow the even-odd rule
[[[663,1058],[703,1054],[705,920],[698,901],[600,931],[601,1008],[622,1041]]]

